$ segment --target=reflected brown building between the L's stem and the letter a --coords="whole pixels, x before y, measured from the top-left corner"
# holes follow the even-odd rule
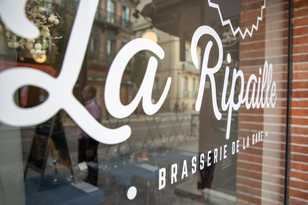
[[[70,8],[72,12],[76,11],[78,3],[75,0],[62,1],[62,5],[68,4],[65,7]],[[82,75],[80,75],[83,79],[79,77],[79,87],[91,85],[96,88],[97,100],[102,105],[103,114],[107,112],[104,106],[104,85],[110,65],[119,50],[134,38],[132,14],[136,3],[138,1],[135,0],[100,0],[96,11]],[[72,18],[73,21],[74,18]],[[131,66],[132,64],[129,63],[121,82],[120,97],[123,104],[128,104],[132,95]],[[82,88],[78,90],[81,92]]]

